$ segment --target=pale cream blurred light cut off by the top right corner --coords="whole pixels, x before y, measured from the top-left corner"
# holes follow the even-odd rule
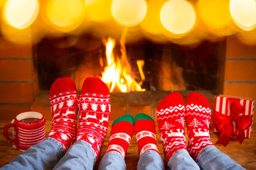
[[[230,0],[230,13],[235,24],[243,30],[252,30],[255,28],[255,0]]]

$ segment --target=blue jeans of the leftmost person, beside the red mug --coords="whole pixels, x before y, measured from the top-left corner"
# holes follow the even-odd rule
[[[92,147],[79,140],[65,153],[63,146],[51,137],[28,148],[2,169],[93,169],[96,162]]]

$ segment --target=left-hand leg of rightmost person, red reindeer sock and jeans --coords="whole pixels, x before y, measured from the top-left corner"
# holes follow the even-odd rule
[[[169,94],[159,103],[157,122],[169,169],[199,169],[186,150],[185,110],[181,94]]]

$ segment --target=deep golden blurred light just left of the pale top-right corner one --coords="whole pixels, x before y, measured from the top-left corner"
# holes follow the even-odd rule
[[[199,0],[198,13],[207,26],[224,28],[230,21],[229,1]]]

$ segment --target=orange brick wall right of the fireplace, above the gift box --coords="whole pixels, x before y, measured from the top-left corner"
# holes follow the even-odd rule
[[[256,46],[227,39],[223,94],[256,98]]]

